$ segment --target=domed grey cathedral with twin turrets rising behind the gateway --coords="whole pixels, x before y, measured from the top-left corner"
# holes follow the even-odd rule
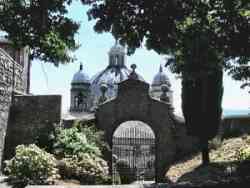
[[[71,114],[95,112],[98,105],[116,97],[118,84],[129,78],[132,70],[126,66],[125,48],[115,43],[108,52],[108,57],[107,67],[91,79],[84,73],[82,64],[74,74],[71,82],[69,110]],[[145,82],[140,74],[137,74],[137,78]],[[162,66],[153,78],[150,96],[158,100],[165,97],[166,102],[173,103],[170,80],[164,73]]]

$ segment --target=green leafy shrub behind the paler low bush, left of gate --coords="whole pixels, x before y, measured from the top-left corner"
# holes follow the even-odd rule
[[[86,137],[86,135],[76,127],[58,129],[56,131],[54,153],[61,157],[79,155],[82,153],[100,156],[100,149],[94,142],[91,142],[91,139],[89,142],[89,138],[90,136]]]

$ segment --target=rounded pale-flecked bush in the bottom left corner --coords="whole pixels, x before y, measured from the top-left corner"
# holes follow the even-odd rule
[[[10,179],[23,184],[53,184],[60,176],[55,158],[34,144],[16,147],[16,155],[5,161]]]

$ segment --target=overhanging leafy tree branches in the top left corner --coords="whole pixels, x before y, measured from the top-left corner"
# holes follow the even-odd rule
[[[72,0],[5,0],[0,3],[0,30],[14,47],[29,46],[30,58],[58,63],[73,60],[70,51],[79,24],[66,17]]]

